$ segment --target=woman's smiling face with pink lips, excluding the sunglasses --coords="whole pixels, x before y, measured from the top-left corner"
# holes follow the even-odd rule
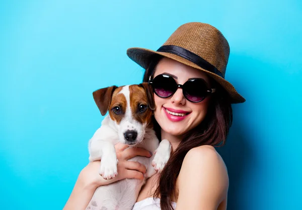
[[[201,78],[210,88],[210,80],[206,74],[197,68],[190,67],[178,61],[164,57],[158,63],[154,77],[160,74],[172,76],[177,84],[183,85],[191,78]],[[181,88],[169,98],[160,98],[154,94],[156,110],[155,119],[162,128],[162,132],[170,135],[179,136],[196,127],[205,117],[210,97],[207,96],[203,101],[192,103],[188,101]],[[174,113],[171,113],[174,112]],[[186,113],[185,116],[175,116],[175,113]]]

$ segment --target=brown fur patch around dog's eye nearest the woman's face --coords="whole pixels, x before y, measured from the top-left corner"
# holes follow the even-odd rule
[[[144,86],[140,85],[131,85],[129,86],[130,90],[130,107],[132,112],[132,117],[140,123],[150,124],[152,119],[153,111],[150,108],[150,105],[154,104],[154,99],[151,98],[148,100],[147,92]],[[151,101],[150,101],[151,100]],[[146,105],[147,109],[140,113],[139,106]]]

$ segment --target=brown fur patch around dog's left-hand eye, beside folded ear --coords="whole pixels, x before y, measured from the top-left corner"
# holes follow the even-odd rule
[[[109,116],[112,120],[116,121],[119,124],[123,117],[125,116],[127,101],[124,94],[120,94],[119,92],[123,89],[124,86],[118,87],[112,94],[111,103],[109,106]],[[120,107],[121,112],[119,114],[114,113],[114,107]]]

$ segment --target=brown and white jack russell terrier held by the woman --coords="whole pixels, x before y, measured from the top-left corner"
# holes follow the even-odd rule
[[[147,83],[95,91],[94,100],[104,116],[102,125],[89,141],[89,160],[101,160],[100,175],[111,179],[117,175],[114,145],[121,142],[154,152],[151,158],[136,156],[129,161],[143,164],[147,173],[144,180],[123,179],[96,189],[89,210],[132,209],[146,178],[161,172],[170,158],[171,144],[167,139],[159,142],[153,129],[152,115],[155,102],[152,88]],[[129,148],[130,148],[129,147]]]

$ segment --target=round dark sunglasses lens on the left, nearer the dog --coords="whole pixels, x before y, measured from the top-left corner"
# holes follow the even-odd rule
[[[162,98],[172,96],[176,90],[175,80],[167,75],[159,75],[152,81],[153,89],[156,95]]]

